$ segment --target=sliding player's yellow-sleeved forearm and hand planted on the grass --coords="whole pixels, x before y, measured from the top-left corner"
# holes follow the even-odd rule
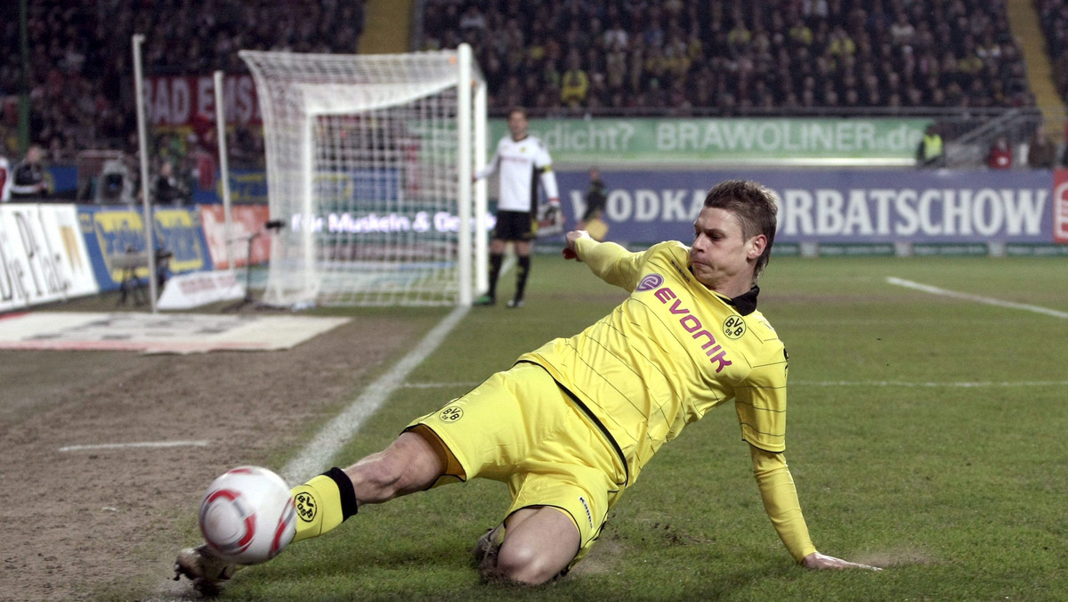
[[[794,477],[782,453],[766,451],[754,445],[749,446],[753,459],[753,475],[756,477],[764,510],[771,519],[779,539],[790,555],[808,569],[871,569],[876,567],[850,562],[833,556],[820,554],[808,537],[808,526],[801,513]]]

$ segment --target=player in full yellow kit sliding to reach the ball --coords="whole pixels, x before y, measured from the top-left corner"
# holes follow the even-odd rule
[[[363,504],[482,477],[512,494],[504,521],[475,546],[483,576],[546,583],[588,552],[660,446],[733,400],[765,510],[789,554],[811,569],[874,569],[816,550],[783,457],[786,350],[756,309],[775,215],[774,192],[735,180],[709,190],[689,247],[630,252],[569,232],[565,257],[629,291],[627,299],[414,420],[383,451],[295,488],[294,541],[334,528]],[[215,584],[233,572],[204,546],[184,551],[176,568]]]

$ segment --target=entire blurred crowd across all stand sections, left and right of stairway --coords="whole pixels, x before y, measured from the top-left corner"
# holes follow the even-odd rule
[[[1068,0],[1034,0],[1068,95]],[[18,152],[17,2],[0,5],[0,154]],[[137,153],[131,35],[146,76],[246,73],[241,48],[355,52],[364,0],[28,0],[30,141],[47,163]],[[533,115],[834,115],[1032,107],[1004,0],[419,0],[414,44],[468,42],[490,110]],[[162,132],[154,171],[188,175],[210,134]],[[258,127],[229,140],[263,157]],[[1059,143],[1057,141],[1056,143]],[[197,149],[199,146],[199,150]],[[1059,161],[1058,161],[1059,163]]]

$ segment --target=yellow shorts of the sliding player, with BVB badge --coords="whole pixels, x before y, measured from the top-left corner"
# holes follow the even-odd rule
[[[417,427],[430,429],[455,459],[447,459],[451,476],[435,487],[492,479],[508,485],[507,515],[550,506],[570,516],[581,544],[569,567],[593,546],[626,479],[603,435],[552,376],[533,364],[493,374],[408,429]]]

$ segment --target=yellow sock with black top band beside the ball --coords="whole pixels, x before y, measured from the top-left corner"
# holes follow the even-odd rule
[[[293,541],[318,537],[356,514],[352,482],[341,468],[331,468],[289,493],[297,508],[297,532]]]

